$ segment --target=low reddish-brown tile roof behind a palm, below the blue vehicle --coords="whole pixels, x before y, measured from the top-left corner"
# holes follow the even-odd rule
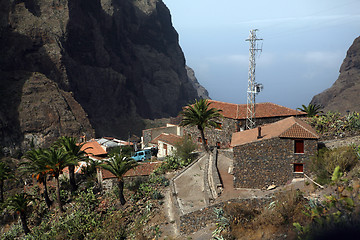
[[[130,169],[124,174],[124,177],[134,177],[134,176],[149,176],[153,173],[158,167],[160,167],[162,162],[144,162],[140,163],[137,167]],[[116,178],[114,174],[100,168],[102,172],[103,179]]]

